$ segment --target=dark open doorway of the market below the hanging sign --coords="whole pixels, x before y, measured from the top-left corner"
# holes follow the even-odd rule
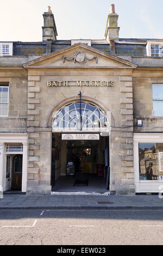
[[[62,140],[52,133],[52,191],[106,192],[109,136],[98,140]]]

